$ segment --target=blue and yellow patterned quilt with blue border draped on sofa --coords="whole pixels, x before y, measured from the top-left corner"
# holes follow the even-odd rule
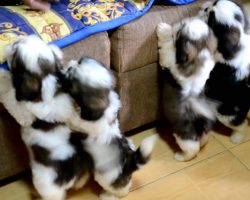
[[[4,46],[19,35],[37,34],[45,42],[62,48],[139,17],[154,0],[136,1],[60,0],[47,12],[34,11],[24,5],[0,6],[0,64],[5,61]]]

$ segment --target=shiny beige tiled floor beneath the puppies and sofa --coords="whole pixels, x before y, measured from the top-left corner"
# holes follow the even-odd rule
[[[156,129],[132,139],[138,145],[152,134],[156,134]],[[173,160],[175,147],[168,141],[158,141],[152,160],[134,174],[131,192],[124,200],[250,199],[250,127],[246,140],[239,145],[233,145],[228,136],[212,132],[208,144],[189,162]],[[97,200],[98,192],[100,188],[92,182],[82,190],[70,191],[68,199]],[[30,194],[27,180],[0,188],[1,200],[30,200]]]

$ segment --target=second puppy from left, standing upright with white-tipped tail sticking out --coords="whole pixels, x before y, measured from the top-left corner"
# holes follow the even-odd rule
[[[135,150],[131,141],[122,135],[117,119],[120,101],[113,90],[114,77],[97,61],[83,58],[71,62],[61,80],[63,88],[79,105],[82,119],[98,123],[99,118],[105,117],[110,122],[107,133],[95,137],[92,135],[96,134],[90,133],[82,140],[83,149],[93,162],[94,178],[104,189],[100,199],[127,195],[133,172],[149,160],[157,137],[144,139]]]

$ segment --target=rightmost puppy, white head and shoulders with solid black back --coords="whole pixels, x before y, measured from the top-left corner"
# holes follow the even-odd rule
[[[217,101],[217,119],[233,129],[231,141],[243,140],[250,108],[250,34],[242,7],[218,0],[208,15],[208,24],[218,39],[223,59],[216,63],[206,86],[206,95]]]

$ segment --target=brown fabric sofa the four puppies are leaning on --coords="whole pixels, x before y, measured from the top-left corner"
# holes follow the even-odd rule
[[[185,6],[153,5],[142,17],[115,30],[101,32],[63,49],[64,61],[93,57],[110,67],[122,101],[119,120],[128,132],[161,118],[158,49],[155,28],[197,13],[205,0]],[[0,105],[0,180],[28,169],[19,126]]]

